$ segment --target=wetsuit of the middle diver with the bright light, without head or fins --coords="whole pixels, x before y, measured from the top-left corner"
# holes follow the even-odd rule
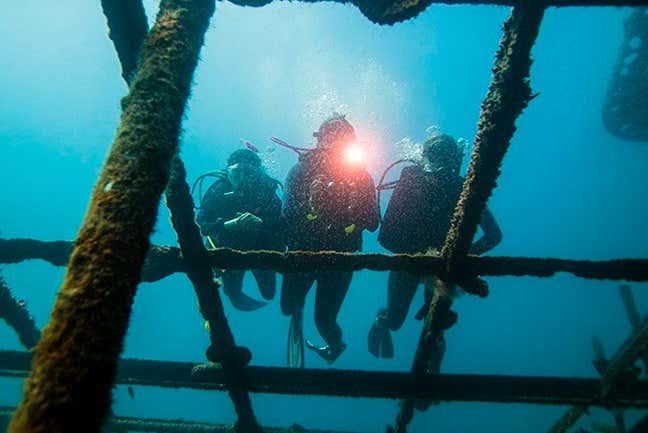
[[[327,169],[312,152],[288,173],[283,215],[289,250],[360,251],[362,231],[374,231],[379,223],[373,179],[364,169]],[[337,316],[352,275],[340,271],[284,275],[283,314],[300,314],[308,291],[317,282],[317,330],[330,347],[344,346]]]

